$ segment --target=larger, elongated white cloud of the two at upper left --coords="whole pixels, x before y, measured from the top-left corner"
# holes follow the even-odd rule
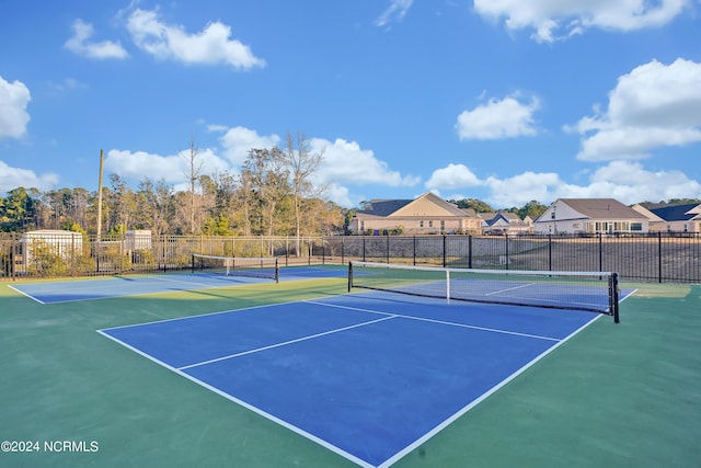
[[[181,25],[165,24],[156,11],[137,9],[127,20],[135,44],[159,59],[183,64],[228,64],[235,69],[264,67],[251,48],[230,39],[231,27],[220,22],[207,24],[199,33],[189,34]]]

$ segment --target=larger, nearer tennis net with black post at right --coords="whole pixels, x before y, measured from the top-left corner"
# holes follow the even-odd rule
[[[618,274],[471,270],[374,262],[348,264],[354,287],[448,300],[587,310],[619,321]]]

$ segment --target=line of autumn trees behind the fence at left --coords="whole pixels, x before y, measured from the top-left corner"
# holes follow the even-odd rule
[[[240,173],[202,173],[194,139],[183,156],[187,190],[145,176],[136,189],[110,174],[102,189],[101,232],[149,229],[154,235],[320,236],[342,231],[348,210],[322,198],[313,175],[323,151],[303,135],[284,148],[249,151]],[[67,229],[96,233],[97,192],[16,187],[0,197],[0,230]]]

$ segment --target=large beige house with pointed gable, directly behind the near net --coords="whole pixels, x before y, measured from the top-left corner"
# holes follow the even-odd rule
[[[479,233],[482,219],[428,192],[415,199],[374,199],[353,216],[356,235]]]

